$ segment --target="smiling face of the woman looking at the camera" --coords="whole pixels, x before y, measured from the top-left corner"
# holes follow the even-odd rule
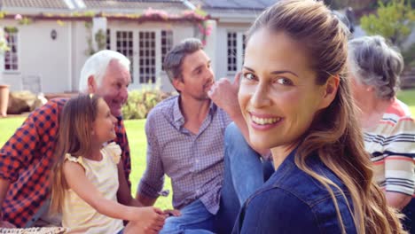
[[[328,105],[325,85],[317,85],[316,76],[301,43],[265,28],[252,35],[247,42],[239,105],[255,147],[271,149],[273,154],[292,150],[315,113]]]

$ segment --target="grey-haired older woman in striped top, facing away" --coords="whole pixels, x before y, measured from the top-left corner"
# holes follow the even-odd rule
[[[408,106],[395,96],[403,58],[379,35],[351,40],[348,51],[349,77],[375,181],[388,205],[403,210],[404,224],[410,230],[415,222],[415,122]]]

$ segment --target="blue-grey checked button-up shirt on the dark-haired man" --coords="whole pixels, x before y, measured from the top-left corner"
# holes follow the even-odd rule
[[[192,134],[183,127],[177,97],[162,101],[147,117],[147,167],[138,191],[157,198],[166,174],[171,178],[175,208],[200,199],[216,214],[223,183],[224,130],[231,119],[212,103],[199,133]]]

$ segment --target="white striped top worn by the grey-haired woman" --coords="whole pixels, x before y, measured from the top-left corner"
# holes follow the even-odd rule
[[[395,99],[376,129],[364,132],[375,180],[385,191],[414,195],[415,122],[407,105]]]

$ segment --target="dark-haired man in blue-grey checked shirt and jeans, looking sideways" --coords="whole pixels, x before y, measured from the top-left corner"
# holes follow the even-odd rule
[[[216,232],[224,130],[234,121],[247,138],[237,99],[239,75],[233,83],[226,78],[215,82],[210,59],[200,40],[193,38],[168,52],[164,68],[179,95],[162,101],[147,116],[147,168],[137,199],[153,206],[166,174],[173,207],[181,214],[166,219],[161,233]]]

